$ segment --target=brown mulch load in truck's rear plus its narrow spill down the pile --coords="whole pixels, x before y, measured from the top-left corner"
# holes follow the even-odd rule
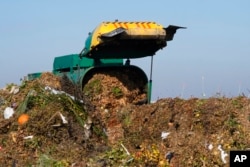
[[[128,104],[146,99],[145,87],[120,72],[98,73],[87,82],[83,89],[84,95],[95,106],[91,113],[93,120],[105,128],[108,141],[111,144],[124,138],[122,124],[117,117],[117,111]]]

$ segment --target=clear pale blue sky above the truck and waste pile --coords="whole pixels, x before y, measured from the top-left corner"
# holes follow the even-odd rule
[[[250,97],[249,0],[0,1],[0,88],[52,71],[103,21],[187,27],[153,57],[152,99]],[[149,77],[150,57],[131,60]]]

